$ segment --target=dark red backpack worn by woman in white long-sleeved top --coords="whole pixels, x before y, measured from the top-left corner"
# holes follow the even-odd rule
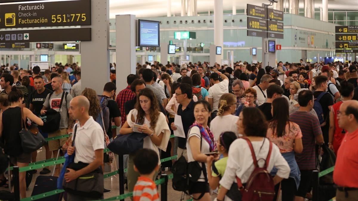
[[[275,185],[270,172],[267,172],[267,166],[269,165],[272,142],[270,141],[269,153],[267,154],[266,160],[260,158],[259,160],[265,160],[265,165],[259,167],[257,165],[255,151],[253,151],[252,144],[249,139],[245,139],[251,150],[253,164],[255,169],[251,173],[250,177],[246,182],[245,188],[243,188],[240,178],[236,177],[237,185],[241,189],[242,201],[272,201],[275,196]]]

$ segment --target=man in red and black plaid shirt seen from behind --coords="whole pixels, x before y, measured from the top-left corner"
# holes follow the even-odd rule
[[[137,77],[137,75],[134,74],[129,74],[127,76],[127,84],[128,86],[121,90],[116,98],[116,102],[118,104],[118,107],[121,111],[121,126],[123,126],[123,124],[127,121],[126,118],[126,113],[125,113],[125,109],[124,109],[124,104],[128,101],[128,100],[132,100],[133,98],[135,98],[135,94],[132,93],[131,90],[131,84],[135,79],[139,79]]]

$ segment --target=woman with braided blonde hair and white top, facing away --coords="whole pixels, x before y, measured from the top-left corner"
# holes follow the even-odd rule
[[[218,115],[210,123],[215,139],[219,139],[220,134],[226,131],[234,132],[238,136],[237,126],[232,123],[239,118],[232,115],[236,110],[236,96],[231,93],[223,94],[219,99],[218,109]]]

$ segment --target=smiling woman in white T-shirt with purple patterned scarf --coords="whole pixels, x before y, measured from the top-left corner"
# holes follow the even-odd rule
[[[207,158],[212,155],[218,156],[216,143],[213,133],[208,127],[208,118],[211,114],[210,104],[205,100],[199,100],[194,103],[195,122],[190,126],[187,137],[188,162],[197,161],[199,163],[201,175],[197,182],[190,183],[189,194],[195,200],[210,200],[210,190],[206,165],[203,164]]]

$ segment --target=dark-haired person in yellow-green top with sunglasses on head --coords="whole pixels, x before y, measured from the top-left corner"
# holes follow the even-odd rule
[[[230,131],[220,134],[216,141],[216,147],[219,154],[223,155],[223,158],[214,162],[214,156],[207,158],[207,172],[209,185],[212,190],[216,190],[219,186],[219,181],[225,173],[226,163],[228,159],[229,147],[233,141],[237,139],[236,134]]]

